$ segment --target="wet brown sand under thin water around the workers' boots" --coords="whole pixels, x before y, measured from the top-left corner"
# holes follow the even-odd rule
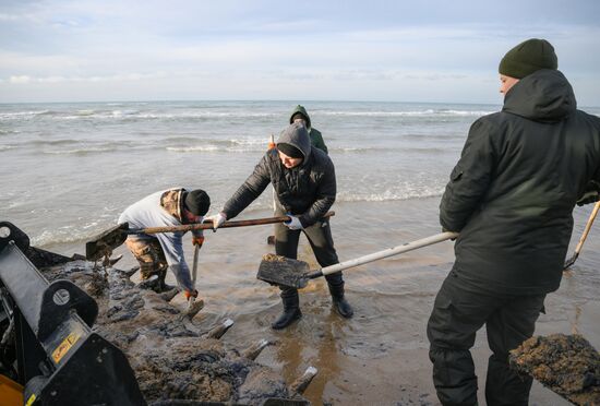
[[[440,232],[439,201],[336,204],[332,229],[340,261]],[[576,208],[569,254],[590,210]],[[269,215],[248,210],[237,219]],[[425,325],[454,259],[452,242],[346,271],[348,300],[355,308],[355,318],[349,321],[331,308],[324,279],[312,282],[300,295],[303,318],[275,332],[269,324],[280,312],[278,289],[255,278],[262,255],[273,251],[266,243],[271,230],[271,226],[260,226],[206,232],[197,278],[206,307],[194,323],[213,325],[225,317],[233,319],[236,324],[221,338],[231,346],[261,338],[275,341],[277,344],[267,347],[256,361],[279,371],[288,384],[308,366],[316,367],[319,373],[304,393],[315,405],[437,405]],[[305,239],[301,241],[299,258],[315,266]],[[82,246],[45,248],[70,254],[81,252]],[[124,253],[119,267],[135,265],[123,247],[119,253]],[[191,264],[191,243],[187,255]],[[573,271],[565,274],[561,288],[548,296],[547,314],[540,317],[536,335],[578,332],[600,348],[599,265],[600,235],[592,229]],[[178,300],[182,303],[183,299],[177,297],[175,302]],[[483,330],[472,353],[479,402],[484,405],[490,351]],[[535,383],[530,404],[568,403]]]

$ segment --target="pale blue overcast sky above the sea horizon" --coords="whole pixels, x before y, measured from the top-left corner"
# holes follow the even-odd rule
[[[500,59],[538,37],[600,106],[599,16],[598,0],[0,0],[0,103],[500,104]]]

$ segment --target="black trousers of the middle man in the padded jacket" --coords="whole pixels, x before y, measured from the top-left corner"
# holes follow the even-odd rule
[[[276,216],[283,216],[284,213],[278,211]],[[311,244],[312,252],[316,258],[316,262],[322,267],[337,264],[337,252],[334,248],[334,239],[332,237],[332,229],[329,227],[329,220],[323,219],[316,222],[310,227],[303,230],[290,230],[284,224],[275,225],[275,253],[296,260],[298,258],[298,242],[300,240],[300,234],[303,232]],[[340,287],[344,284],[341,272],[335,274],[325,275],[327,284],[331,287]],[[290,287],[280,287],[283,296],[295,295],[297,289]]]

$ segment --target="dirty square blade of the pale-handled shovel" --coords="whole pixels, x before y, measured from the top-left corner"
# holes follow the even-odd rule
[[[261,261],[256,278],[272,285],[301,289],[309,283],[309,264],[304,261],[266,254]]]

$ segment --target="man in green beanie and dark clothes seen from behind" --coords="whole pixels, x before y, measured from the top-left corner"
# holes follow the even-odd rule
[[[444,405],[477,404],[469,349],[483,324],[488,405],[528,404],[531,378],[508,368],[508,351],[532,336],[559,288],[573,208],[600,178],[600,119],[577,110],[550,43],[511,49],[500,80],[504,107],[471,126],[440,206],[443,228],[460,232],[428,323]]]

